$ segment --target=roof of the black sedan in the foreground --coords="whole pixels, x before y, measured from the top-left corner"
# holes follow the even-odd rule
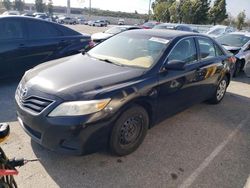
[[[166,38],[168,40],[174,39],[176,37],[188,37],[188,36],[202,36],[206,38],[210,38],[207,35],[199,34],[199,33],[191,33],[185,31],[178,30],[167,30],[167,29],[138,29],[138,30],[130,30],[126,31],[126,33],[134,33],[139,35],[149,35],[154,37]]]

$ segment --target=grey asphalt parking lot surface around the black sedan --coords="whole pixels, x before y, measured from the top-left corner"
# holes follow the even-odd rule
[[[105,28],[71,26],[93,33]],[[250,175],[250,79],[234,79],[219,105],[195,105],[150,131],[126,157],[107,151],[75,157],[48,151],[16,121],[17,80],[0,83],[0,122],[11,134],[2,148],[11,157],[39,158],[19,169],[20,187],[242,188]]]

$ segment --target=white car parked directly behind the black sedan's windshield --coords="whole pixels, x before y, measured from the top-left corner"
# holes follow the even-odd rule
[[[141,27],[134,26],[134,25],[114,26],[104,32],[93,34],[91,36],[91,39],[94,43],[100,43],[118,33],[121,33],[127,30],[134,30],[134,29],[141,29]]]

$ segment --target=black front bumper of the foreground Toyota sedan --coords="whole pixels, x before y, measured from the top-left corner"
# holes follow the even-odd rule
[[[16,101],[18,121],[32,140],[52,151],[72,155],[93,153],[108,145],[115,115],[99,118],[98,121],[90,121],[98,114],[49,117],[49,112],[62,102],[56,98],[53,100],[56,102],[36,115],[20,107]]]

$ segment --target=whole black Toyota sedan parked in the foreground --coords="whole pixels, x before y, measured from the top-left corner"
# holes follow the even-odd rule
[[[213,39],[132,30],[26,72],[16,91],[18,120],[37,143],[86,154],[135,151],[157,122],[202,101],[217,104],[235,58]]]

